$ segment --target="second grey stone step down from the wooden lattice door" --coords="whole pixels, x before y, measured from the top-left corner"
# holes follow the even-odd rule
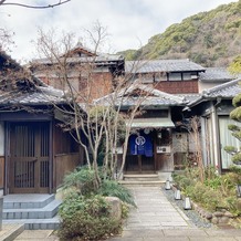
[[[61,200],[53,200],[43,208],[3,209],[3,219],[50,219],[57,213]]]

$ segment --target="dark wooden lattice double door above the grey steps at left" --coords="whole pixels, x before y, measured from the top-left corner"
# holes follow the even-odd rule
[[[10,193],[46,193],[50,188],[50,123],[11,123]]]

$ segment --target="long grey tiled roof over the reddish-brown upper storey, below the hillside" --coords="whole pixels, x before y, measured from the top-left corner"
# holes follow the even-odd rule
[[[155,73],[155,72],[185,72],[205,71],[206,69],[187,59],[185,60],[155,60],[155,61],[126,61],[126,73]]]

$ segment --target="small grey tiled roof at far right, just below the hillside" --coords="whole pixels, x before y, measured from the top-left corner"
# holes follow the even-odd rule
[[[235,76],[230,74],[226,67],[207,67],[206,72],[199,75],[201,82],[228,82],[234,78]]]

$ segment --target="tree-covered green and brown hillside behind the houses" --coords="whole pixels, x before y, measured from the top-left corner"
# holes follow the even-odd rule
[[[200,12],[154,35],[126,60],[190,59],[203,66],[227,66],[241,53],[241,0]]]

